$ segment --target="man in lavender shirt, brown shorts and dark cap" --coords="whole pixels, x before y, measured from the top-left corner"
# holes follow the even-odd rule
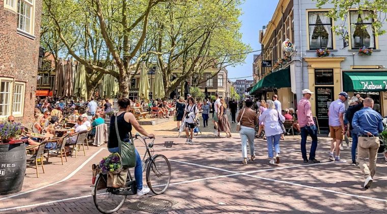
[[[328,110],[328,122],[329,132],[332,141],[330,142],[329,160],[335,161],[335,163],[346,163],[345,160],[340,159],[340,145],[343,142],[343,135],[345,133],[344,127],[344,102],[348,99],[346,92],[339,94],[339,99],[333,101],[329,105]],[[334,157],[333,151],[336,151]]]

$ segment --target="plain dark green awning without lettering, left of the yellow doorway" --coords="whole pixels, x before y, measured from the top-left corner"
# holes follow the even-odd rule
[[[250,94],[257,91],[258,89],[267,89],[267,88],[289,88],[291,87],[290,83],[290,68],[286,67],[284,69],[272,72],[267,76],[263,77],[250,91]]]

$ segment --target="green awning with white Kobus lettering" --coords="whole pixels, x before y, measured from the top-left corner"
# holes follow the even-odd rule
[[[343,72],[344,91],[387,91],[387,71]]]

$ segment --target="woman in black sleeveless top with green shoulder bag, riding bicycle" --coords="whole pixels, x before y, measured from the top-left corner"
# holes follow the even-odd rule
[[[117,123],[118,123],[118,132],[120,138],[124,142],[129,142],[129,132],[132,130],[132,126],[140,132],[142,135],[147,136],[149,138],[154,138],[153,134],[149,134],[135,119],[134,115],[130,113],[130,100],[128,98],[120,98],[118,99],[119,112],[117,113]],[[110,117],[109,124],[109,133],[116,133],[115,126],[116,116],[113,115]],[[119,151],[118,148],[118,139],[117,135],[111,134],[109,135],[109,140],[107,142],[107,149],[111,153],[115,153]],[[136,166],[134,168],[134,177],[137,184],[137,196],[142,196],[144,194],[149,193],[149,188],[147,186],[143,186],[143,168],[141,157],[137,149],[135,149],[136,154]]]

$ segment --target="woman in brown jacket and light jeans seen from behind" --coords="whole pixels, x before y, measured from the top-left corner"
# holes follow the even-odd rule
[[[247,142],[248,148],[250,149],[251,160],[254,161],[254,136],[255,136],[255,126],[258,124],[258,118],[255,111],[251,108],[253,105],[252,100],[246,100],[245,108],[239,110],[238,117],[236,120],[240,122],[240,140],[241,140],[241,149],[242,149],[242,164],[247,164]]]

